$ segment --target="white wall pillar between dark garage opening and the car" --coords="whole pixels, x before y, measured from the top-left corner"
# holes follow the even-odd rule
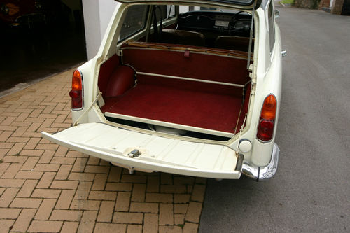
[[[87,59],[97,54],[117,2],[114,0],[82,0]]]

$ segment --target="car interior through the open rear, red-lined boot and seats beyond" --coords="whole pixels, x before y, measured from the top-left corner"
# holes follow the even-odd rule
[[[135,8],[125,17],[120,52],[99,70],[106,118],[148,129],[186,129],[197,137],[205,132],[211,139],[228,140],[239,132],[251,90],[251,15],[153,6],[151,23],[140,27],[148,10]],[[251,64],[253,53],[249,59]]]

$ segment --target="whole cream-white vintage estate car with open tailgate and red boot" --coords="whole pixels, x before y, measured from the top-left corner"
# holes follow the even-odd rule
[[[130,173],[274,176],[285,51],[273,1],[118,1],[73,73],[73,126],[43,137]]]

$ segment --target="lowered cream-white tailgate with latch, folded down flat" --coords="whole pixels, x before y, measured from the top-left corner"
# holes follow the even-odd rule
[[[210,178],[241,176],[243,155],[237,158],[228,146],[167,139],[104,123],[80,124],[42,135],[59,145],[134,169]],[[135,150],[140,155],[130,157]]]

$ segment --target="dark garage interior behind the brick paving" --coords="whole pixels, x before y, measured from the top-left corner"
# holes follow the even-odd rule
[[[87,60],[81,0],[0,0],[0,4],[0,96]],[[39,19],[27,16],[38,12]],[[6,19],[11,13],[16,20]]]

